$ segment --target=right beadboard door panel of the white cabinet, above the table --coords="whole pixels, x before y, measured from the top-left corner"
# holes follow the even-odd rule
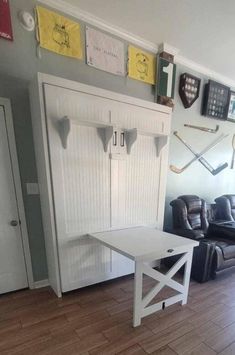
[[[134,127],[140,132],[129,154],[125,140],[120,154],[112,154],[112,227],[157,226],[161,159],[157,156],[154,137],[145,132],[158,130],[163,133],[168,126],[161,115],[156,119],[156,112],[124,104],[113,106],[111,122],[122,127],[119,135]]]

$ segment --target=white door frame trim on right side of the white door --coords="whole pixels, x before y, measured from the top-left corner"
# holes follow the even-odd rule
[[[3,111],[5,113],[6,129],[7,129],[7,136],[9,142],[10,157],[11,157],[11,168],[12,168],[13,180],[15,185],[16,203],[17,203],[19,218],[21,221],[20,230],[21,230],[21,237],[22,237],[22,244],[23,244],[26,273],[27,273],[29,288],[32,289],[34,288],[33,269],[32,269],[32,261],[31,261],[31,254],[29,248],[28,230],[27,230],[27,224],[25,218],[18,156],[16,150],[11,102],[9,99],[0,97],[0,106],[3,108]]]

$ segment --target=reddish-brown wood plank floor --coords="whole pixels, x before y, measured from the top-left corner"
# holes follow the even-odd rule
[[[145,279],[146,291],[151,285]],[[2,295],[0,354],[235,354],[235,270],[192,282],[186,306],[168,307],[135,329],[132,297],[132,276],[62,299],[49,288]]]

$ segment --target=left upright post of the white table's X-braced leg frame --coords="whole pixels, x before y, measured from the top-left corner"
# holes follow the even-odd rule
[[[133,326],[134,327],[137,327],[141,323],[142,294],[143,294],[142,263],[136,261],[135,262],[135,280],[134,280],[134,310],[133,310]]]

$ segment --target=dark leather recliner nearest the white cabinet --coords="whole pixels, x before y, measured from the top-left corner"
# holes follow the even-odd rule
[[[172,233],[200,242],[194,248],[192,277],[199,282],[214,278],[218,271],[235,266],[235,237],[213,235],[207,219],[206,202],[195,195],[173,200]]]

